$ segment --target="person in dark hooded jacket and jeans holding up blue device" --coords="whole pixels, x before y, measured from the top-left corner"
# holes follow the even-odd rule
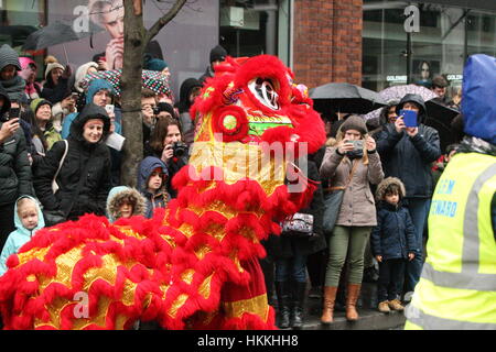
[[[416,227],[416,253],[408,262],[405,293],[413,292],[423,265],[422,234],[433,193],[431,164],[441,155],[439,133],[423,124],[425,103],[418,95],[406,95],[396,107],[398,118],[378,135],[377,151],[386,177],[398,177],[405,184],[408,209]],[[401,285],[401,283],[400,283]],[[401,287],[400,287],[401,289]],[[405,300],[409,300],[406,295]]]

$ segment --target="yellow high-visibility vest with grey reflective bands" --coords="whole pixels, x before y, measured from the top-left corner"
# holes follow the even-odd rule
[[[407,306],[406,329],[496,330],[496,157],[456,154],[429,212],[428,257]]]

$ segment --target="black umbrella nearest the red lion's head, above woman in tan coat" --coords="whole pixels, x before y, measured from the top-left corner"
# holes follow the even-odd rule
[[[386,106],[374,90],[347,82],[335,82],[313,88],[310,97],[314,108],[323,114],[336,112],[367,113]]]

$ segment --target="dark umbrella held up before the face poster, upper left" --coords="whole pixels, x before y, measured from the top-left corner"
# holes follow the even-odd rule
[[[26,40],[22,50],[24,51],[37,51],[46,48],[57,44],[64,44],[68,42],[78,41],[95,32],[103,31],[103,29],[91,26],[88,32],[76,33],[71,24],[55,21],[33,33],[31,33]]]

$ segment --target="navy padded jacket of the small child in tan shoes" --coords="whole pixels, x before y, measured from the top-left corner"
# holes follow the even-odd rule
[[[418,253],[416,245],[416,227],[408,209],[395,207],[386,201],[379,202],[377,226],[370,234],[374,256],[381,255],[382,261],[407,258],[408,253]]]

